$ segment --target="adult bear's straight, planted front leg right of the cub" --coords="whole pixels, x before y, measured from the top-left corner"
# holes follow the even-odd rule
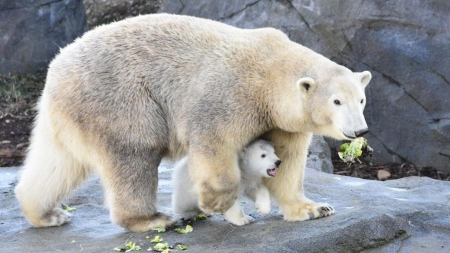
[[[283,161],[273,178],[264,184],[275,197],[285,220],[298,221],[330,215],[334,209],[327,203],[316,203],[304,196],[303,175],[312,133],[292,133],[272,130],[266,136]]]

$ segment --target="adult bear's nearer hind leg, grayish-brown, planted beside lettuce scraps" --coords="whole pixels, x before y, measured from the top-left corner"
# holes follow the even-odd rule
[[[112,222],[141,232],[176,221],[156,210],[157,167],[161,158],[162,152],[155,149],[121,148],[111,164],[101,169]]]

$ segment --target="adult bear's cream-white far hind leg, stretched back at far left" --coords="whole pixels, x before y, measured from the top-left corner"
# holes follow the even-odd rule
[[[67,211],[56,206],[90,174],[56,141],[51,129],[40,113],[15,187],[25,217],[38,227],[61,225],[70,219]]]

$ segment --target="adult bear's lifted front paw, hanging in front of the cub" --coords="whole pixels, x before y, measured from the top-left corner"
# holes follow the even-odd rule
[[[198,206],[205,213],[224,212],[237,199],[238,187],[213,188],[203,183],[199,194]]]

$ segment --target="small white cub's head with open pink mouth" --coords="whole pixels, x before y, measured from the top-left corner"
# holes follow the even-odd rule
[[[275,176],[276,168],[281,164],[272,143],[262,139],[255,140],[244,147],[240,156],[245,161],[241,169],[254,176]]]

